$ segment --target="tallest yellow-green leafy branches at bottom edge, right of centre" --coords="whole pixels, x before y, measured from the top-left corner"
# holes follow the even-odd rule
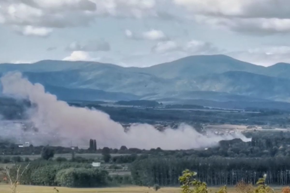
[[[196,174],[196,172],[189,170],[182,172],[182,176],[179,177],[179,181],[182,184],[182,193],[207,193],[206,183],[193,178]]]

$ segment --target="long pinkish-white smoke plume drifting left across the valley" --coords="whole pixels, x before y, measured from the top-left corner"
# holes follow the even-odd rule
[[[135,124],[127,132],[121,124],[98,110],[69,106],[46,93],[41,84],[32,84],[19,72],[10,72],[1,78],[3,94],[30,100],[34,108],[29,112],[30,122],[39,129],[33,131],[33,143],[67,146],[70,141],[78,145],[88,144],[96,139],[99,147],[119,148],[122,145],[141,149],[160,147],[162,149],[190,149],[209,147],[223,139],[241,138],[240,133],[232,135],[201,135],[188,125],[178,129],[160,132],[148,124]],[[28,131],[29,132],[29,131]],[[27,134],[26,134],[27,135]],[[29,135],[32,135],[30,131]],[[31,140],[31,139],[30,139]]]

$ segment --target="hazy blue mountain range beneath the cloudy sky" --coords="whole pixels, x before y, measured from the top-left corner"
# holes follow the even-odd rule
[[[21,71],[61,100],[212,100],[290,102],[290,64],[263,67],[225,55],[189,56],[151,67],[42,60],[0,64]]]

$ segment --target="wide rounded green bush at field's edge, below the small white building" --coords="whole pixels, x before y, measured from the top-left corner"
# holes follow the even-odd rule
[[[107,184],[108,172],[98,169],[68,168],[57,172],[55,182],[65,187],[100,187]]]

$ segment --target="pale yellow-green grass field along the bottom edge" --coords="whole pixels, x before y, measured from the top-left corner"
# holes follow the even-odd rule
[[[10,193],[9,185],[2,185],[0,184],[0,192],[1,193]],[[48,186],[25,186],[20,185],[17,187],[17,191],[19,193],[54,193],[56,192],[54,187]],[[275,192],[281,192],[282,187],[274,188]],[[219,188],[213,187],[209,188],[209,192],[217,192]],[[118,187],[118,188],[63,188],[57,187],[59,193],[153,193],[156,192],[153,188],[148,187],[139,187],[139,186],[132,186],[132,187]],[[163,193],[179,193],[181,188],[161,188],[157,192]],[[228,188],[229,193],[235,193],[234,187]]]

